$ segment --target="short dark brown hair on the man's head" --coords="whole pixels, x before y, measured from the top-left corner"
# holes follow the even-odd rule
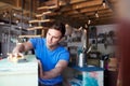
[[[62,23],[56,23],[56,24],[54,24],[50,29],[58,30],[58,31],[61,31],[62,37],[65,35],[66,29],[65,29],[65,25],[62,24]]]

